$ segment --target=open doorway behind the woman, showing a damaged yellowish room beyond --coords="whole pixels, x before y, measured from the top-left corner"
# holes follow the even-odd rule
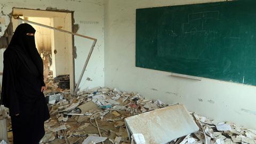
[[[22,15],[22,19],[41,23],[67,31],[73,28],[73,12],[44,11],[13,8],[13,15]],[[22,20],[12,18],[13,31]],[[36,29],[36,47],[44,63],[44,81],[46,92],[74,92],[74,38],[73,35],[33,25]]]

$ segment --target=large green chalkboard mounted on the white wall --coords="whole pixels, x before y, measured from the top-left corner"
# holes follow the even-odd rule
[[[256,85],[256,1],[137,9],[136,66]]]

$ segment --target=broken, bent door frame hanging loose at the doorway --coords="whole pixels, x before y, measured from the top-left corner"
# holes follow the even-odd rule
[[[16,8],[16,7],[14,7],[14,8],[15,8],[15,9],[20,9],[20,8]],[[29,9],[29,10],[30,10],[30,9]],[[60,12],[60,11],[57,11],[57,12]],[[18,19],[18,20],[21,20],[21,21],[24,21],[24,22],[32,23],[32,24],[34,24],[34,25],[38,25],[38,26],[50,28],[50,29],[53,29],[53,30],[58,30],[58,31],[61,31],[62,33],[67,33],[67,34],[73,35],[73,37],[72,37],[73,50],[74,50],[74,35],[93,40],[91,49],[90,49],[89,54],[87,55],[86,61],[85,61],[85,63],[84,63],[84,67],[83,67],[83,69],[82,69],[82,73],[80,74],[79,79],[78,79],[78,82],[77,82],[76,85],[75,85],[75,62],[74,62],[74,54],[72,54],[72,59],[73,59],[73,70],[72,70],[72,71],[73,71],[73,80],[74,80],[74,81],[73,81],[73,84],[74,84],[75,90],[73,91],[73,90],[70,89],[70,93],[71,93],[72,95],[77,94],[77,92],[78,92],[78,90],[79,90],[79,85],[80,85],[81,80],[82,80],[82,78],[83,78],[85,69],[86,69],[86,67],[87,67],[87,65],[88,65],[88,62],[89,62],[89,60],[90,60],[90,57],[91,57],[91,54],[92,54],[92,52],[93,52],[93,48],[94,48],[94,46],[95,46],[95,44],[96,44],[96,42],[97,42],[97,39],[96,39],[96,38],[93,38],[93,37],[81,35],[81,34],[76,34],[76,33],[73,33],[73,32],[71,32],[71,31],[67,31],[67,30],[63,30],[63,29],[58,29],[58,28],[54,28],[54,27],[42,25],[41,23],[37,23],[37,22],[29,21],[29,20],[24,20],[24,19],[21,19],[21,18],[20,18],[21,16],[23,16],[23,15],[21,15],[21,14],[13,14],[13,15],[12,15],[12,17],[13,17],[14,19]],[[73,12],[71,13],[71,19],[72,19],[72,20],[74,19],[74,17],[73,17]],[[73,22],[72,22],[72,29],[73,29],[73,27],[74,27],[74,25],[73,25]]]

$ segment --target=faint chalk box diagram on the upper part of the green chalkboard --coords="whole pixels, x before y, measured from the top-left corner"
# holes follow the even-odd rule
[[[217,22],[219,20],[219,14],[219,11],[190,13],[188,14],[188,22],[182,23],[182,32],[189,34],[211,31],[207,25],[208,23]]]

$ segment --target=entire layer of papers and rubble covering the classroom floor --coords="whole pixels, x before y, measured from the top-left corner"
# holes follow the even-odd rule
[[[53,92],[47,93],[54,94]],[[78,93],[77,97],[72,97],[67,91],[60,91],[60,93],[63,98],[52,96],[52,101],[49,102],[51,118],[45,122],[45,135],[41,143],[131,143],[125,118],[139,116],[148,111],[150,112],[146,114],[155,113],[154,111],[158,111],[158,109],[161,111],[161,108],[171,107],[165,105],[161,100],[147,100],[138,93],[121,92],[108,87],[95,87]],[[167,114],[165,115],[168,117]],[[177,114],[177,117],[179,116]],[[193,123],[197,124],[199,131],[191,134],[189,133],[193,131],[189,131],[185,136],[179,135],[180,138],[175,137],[175,140],[167,143],[256,144],[255,130],[245,129],[229,122],[216,124],[213,123],[213,120],[195,113],[190,113],[189,116],[189,121],[194,119]],[[166,119],[172,122],[175,115]],[[157,118],[154,121],[158,120],[159,122],[163,121],[163,119]],[[187,126],[190,129],[190,124]],[[170,125],[166,127],[170,127]],[[183,125],[183,128],[185,127],[186,125]],[[10,125],[8,129],[11,129]],[[151,133],[154,134],[154,132]],[[155,132],[155,134],[157,133]],[[170,133],[167,135],[172,137]],[[146,143],[147,136],[147,134],[138,132],[132,133],[130,138],[133,143],[139,144]]]

